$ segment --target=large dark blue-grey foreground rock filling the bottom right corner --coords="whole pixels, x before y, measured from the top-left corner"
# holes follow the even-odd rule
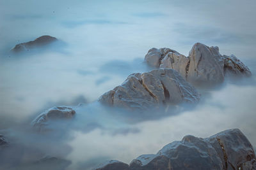
[[[205,139],[185,136],[156,154],[141,155],[129,165],[129,170],[157,169],[256,169],[256,159],[244,134],[239,129],[230,129]]]

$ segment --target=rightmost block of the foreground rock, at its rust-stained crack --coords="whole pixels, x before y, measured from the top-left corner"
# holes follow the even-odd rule
[[[239,129],[220,132],[205,141],[215,148],[224,169],[256,169],[253,146]]]

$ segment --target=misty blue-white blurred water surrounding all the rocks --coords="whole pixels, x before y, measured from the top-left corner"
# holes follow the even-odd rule
[[[231,128],[255,147],[255,6],[250,0],[0,0],[0,133],[13,144],[0,153],[0,169],[45,156],[72,161],[68,169],[90,169],[107,159],[129,164],[187,134],[205,138]],[[60,43],[10,53],[42,35]],[[196,42],[236,55],[252,77],[198,88],[200,103],[167,112],[138,115],[97,103],[129,74],[150,70],[143,63],[150,48],[188,55]],[[56,132],[31,131],[31,120],[58,105],[73,106],[76,117],[54,122]]]

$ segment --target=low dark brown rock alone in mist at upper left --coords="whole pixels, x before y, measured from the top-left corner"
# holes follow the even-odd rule
[[[38,47],[38,46],[45,46],[49,45],[50,43],[57,41],[57,38],[52,36],[40,36],[39,38],[36,38],[34,41],[29,41],[27,43],[20,43],[12,48],[12,52],[23,52],[31,50],[32,48]]]

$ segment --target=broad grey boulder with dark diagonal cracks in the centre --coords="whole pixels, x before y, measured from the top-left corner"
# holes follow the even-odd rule
[[[173,69],[155,69],[134,73],[115,89],[103,94],[99,101],[122,108],[148,109],[167,103],[195,103],[199,94]]]

